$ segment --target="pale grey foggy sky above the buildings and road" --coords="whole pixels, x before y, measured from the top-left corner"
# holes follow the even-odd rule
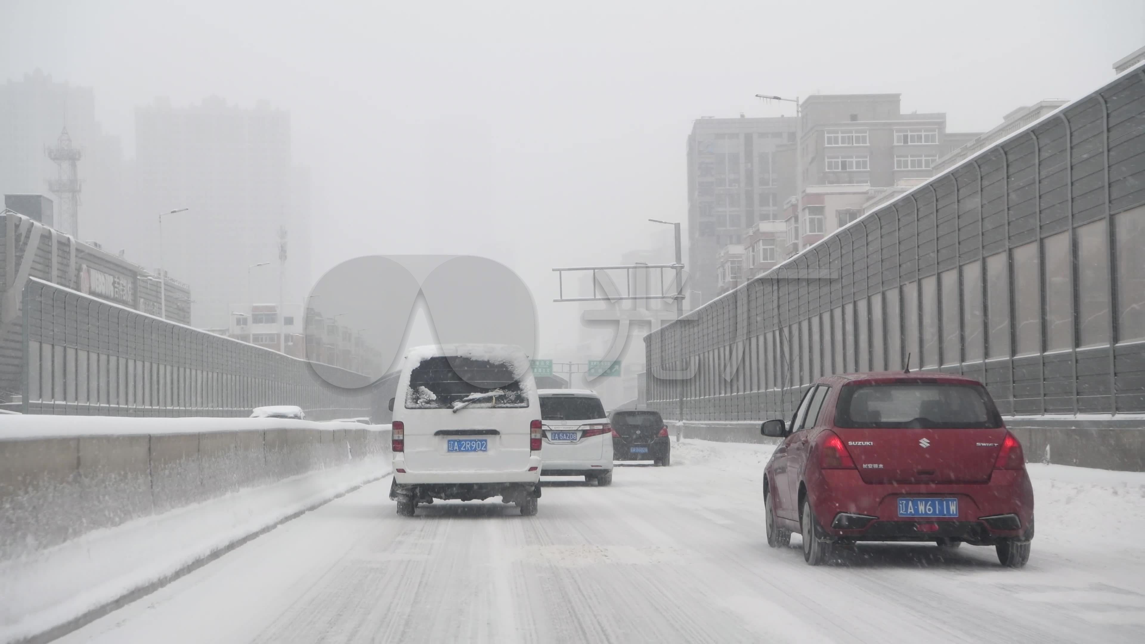
[[[156,96],[267,99],[313,172],[315,277],[358,254],[490,257],[532,288],[552,354],[578,323],[550,268],[669,243],[646,219],[686,218],[693,119],[893,92],[986,131],[1145,44],[1140,0],[339,5],[5,0],[0,81],[94,87],[128,157]]]

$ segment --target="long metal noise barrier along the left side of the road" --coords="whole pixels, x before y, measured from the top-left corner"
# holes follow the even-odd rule
[[[5,331],[0,352],[5,364],[23,367],[5,376],[18,378],[22,402],[10,408],[25,414],[247,416],[254,407],[297,405],[308,418],[332,419],[370,416],[374,407],[372,387],[333,387],[305,360],[41,280],[24,286],[22,322]]]

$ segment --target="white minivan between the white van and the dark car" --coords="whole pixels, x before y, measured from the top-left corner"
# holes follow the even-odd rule
[[[613,426],[589,390],[540,390],[540,476],[613,482]]]

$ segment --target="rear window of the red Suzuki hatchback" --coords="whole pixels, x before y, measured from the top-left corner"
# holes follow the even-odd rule
[[[889,383],[844,386],[836,405],[839,427],[995,429],[1002,426],[986,387]]]

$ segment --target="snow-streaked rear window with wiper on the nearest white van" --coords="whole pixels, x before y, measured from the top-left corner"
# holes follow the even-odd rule
[[[474,394],[490,395],[469,403],[472,409],[528,407],[529,394],[514,378],[510,362],[444,355],[427,358],[410,370],[405,408],[452,409]],[[506,382],[508,384],[504,384]]]

